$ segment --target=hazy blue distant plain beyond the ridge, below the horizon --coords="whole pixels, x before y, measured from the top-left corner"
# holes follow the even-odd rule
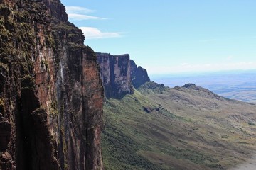
[[[151,79],[170,87],[193,82],[220,96],[256,103],[256,70],[166,74],[155,75]]]

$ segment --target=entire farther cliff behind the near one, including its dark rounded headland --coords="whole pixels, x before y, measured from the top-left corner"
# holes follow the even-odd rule
[[[132,94],[135,88],[150,81],[146,69],[137,67],[129,55],[110,55],[97,52],[100,77],[107,98],[122,98]]]

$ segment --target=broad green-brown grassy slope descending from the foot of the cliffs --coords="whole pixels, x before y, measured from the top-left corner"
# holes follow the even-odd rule
[[[228,169],[256,149],[256,107],[146,84],[105,103],[106,169]]]

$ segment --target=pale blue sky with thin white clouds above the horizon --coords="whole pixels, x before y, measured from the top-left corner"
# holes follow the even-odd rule
[[[256,69],[255,0],[61,0],[95,52],[149,74]]]

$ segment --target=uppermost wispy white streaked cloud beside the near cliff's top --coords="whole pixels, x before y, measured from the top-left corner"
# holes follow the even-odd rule
[[[68,13],[68,19],[71,21],[82,21],[82,20],[103,20],[106,18],[101,18],[97,16],[88,16],[85,13],[94,12],[91,9],[83,8],[80,6],[66,6],[66,12]]]

